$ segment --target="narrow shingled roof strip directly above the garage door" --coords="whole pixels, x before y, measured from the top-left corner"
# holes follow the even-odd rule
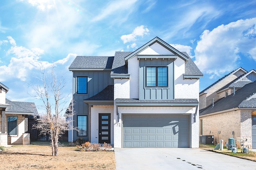
[[[175,99],[175,100],[138,100],[138,99],[116,99],[118,103],[135,103],[135,104],[152,104],[152,103],[163,103],[163,104],[198,104],[197,99]]]

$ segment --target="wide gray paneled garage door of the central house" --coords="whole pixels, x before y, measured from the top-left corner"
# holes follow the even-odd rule
[[[188,115],[122,115],[123,147],[189,147]]]

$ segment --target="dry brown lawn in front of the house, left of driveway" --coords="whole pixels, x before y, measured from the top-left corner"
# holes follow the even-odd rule
[[[59,147],[51,156],[50,146],[14,145],[0,151],[1,170],[115,170],[114,152],[80,152],[76,147]]]

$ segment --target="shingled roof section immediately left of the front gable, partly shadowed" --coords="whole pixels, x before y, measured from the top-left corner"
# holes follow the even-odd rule
[[[128,56],[132,52],[121,52],[115,53],[111,75],[128,74],[128,66],[124,61],[124,57]]]

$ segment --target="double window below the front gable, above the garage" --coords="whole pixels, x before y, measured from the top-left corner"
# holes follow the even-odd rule
[[[167,81],[167,67],[146,67],[147,87],[167,87]]]

